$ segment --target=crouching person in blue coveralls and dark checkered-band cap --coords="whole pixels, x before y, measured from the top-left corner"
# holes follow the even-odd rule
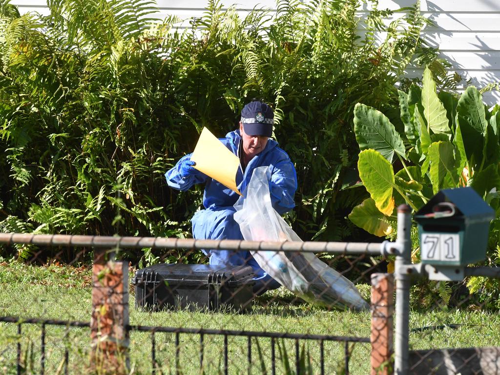
[[[236,185],[241,192],[250,182],[253,169],[269,166],[269,191],[273,208],[280,214],[295,206],[293,196],[297,176],[288,154],[271,139],[274,113],[261,101],[251,101],[241,110],[239,129],[226,134],[220,141],[239,158]],[[185,191],[196,183],[204,183],[203,206],[191,218],[192,235],[196,239],[243,239],[239,225],[233,219],[233,204],[239,195],[220,182],[194,168],[191,154],[183,156],[165,173],[166,182],[174,189]],[[244,193],[243,193],[244,195]],[[210,264],[250,265],[256,275],[254,292],[260,294],[280,284],[271,278],[248,251],[203,250]]]

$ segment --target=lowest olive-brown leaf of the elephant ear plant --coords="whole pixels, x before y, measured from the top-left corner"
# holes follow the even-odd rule
[[[361,204],[355,206],[348,217],[360,228],[379,237],[389,234],[392,230],[387,222],[387,216],[378,210],[375,201],[371,198],[366,198]]]

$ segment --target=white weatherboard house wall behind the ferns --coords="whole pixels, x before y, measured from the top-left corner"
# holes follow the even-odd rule
[[[411,6],[413,0],[379,0],[379,8],[396,10]],[[21,13],[46,13],[45,0],[12,0]],[[200,17],[207,0],[157,0],[159,16],[178,15],[182,19]],[[224,7],[235,4],[244,15],[253,7],[276,8],[274,0],[223,0]],[[456,72],[471,84],[483,87],[500,82],[500,0],[421,0],[422,13],[435,26],[426,27],[424,37],[439,47],[442,57],[450,61]],[[360,14],[367,9],[360,9]],[[397,13],[395,16],[403,15]],[[421,76],[422,70],[408,71],[409,76]],[[483,95],[488,104],[500,103],[500,92]]]

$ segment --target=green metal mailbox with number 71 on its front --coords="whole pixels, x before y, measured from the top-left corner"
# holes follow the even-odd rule
[[[471,187],[439,191],[414,215],[422,263],[464,266],[483,260],[494,217]]]

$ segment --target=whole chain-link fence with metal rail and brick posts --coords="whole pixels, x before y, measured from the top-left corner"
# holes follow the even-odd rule
[[[498,373],[497,313],[463,282],[429,280],[431,268],[412,263],[409,213],[398,215],[396,241],[383,243],[0,234],[33,254],[0,263],[0,371]],[[144,248],[157,264],[130,265],[127,253]],[[168,263],[207,248],[279,255],[306,279],[292,293],[257,285],[244,265]],[[311,254],[338,277],[311,278]]]

